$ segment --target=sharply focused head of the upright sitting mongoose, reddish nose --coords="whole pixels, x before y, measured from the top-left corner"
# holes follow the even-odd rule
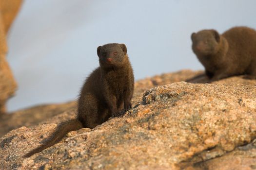
[[[127,57],[127,49],[124,44],[105,44],[97,49],[100,65],[117,66],[124,62]]]

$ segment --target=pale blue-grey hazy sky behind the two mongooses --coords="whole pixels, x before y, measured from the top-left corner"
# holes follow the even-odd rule
[[[19,86],[8,111],[76,100],[107,43],[126,45],[136,80],[203,69],[191,34],[256,29],[255,7],[256,0],[24,0],[8,33]]]

